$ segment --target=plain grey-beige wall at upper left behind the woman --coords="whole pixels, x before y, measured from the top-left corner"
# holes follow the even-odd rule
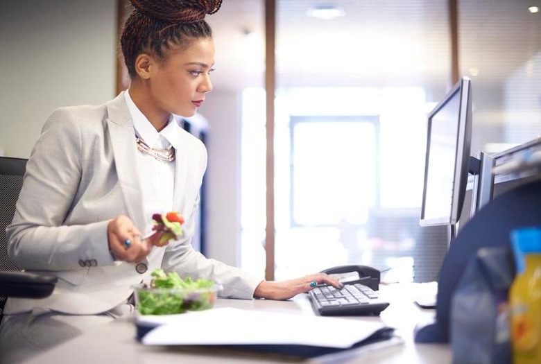
[[[56,108],[115,92],[114,0],[2,0],[0,150],[28,157]]]

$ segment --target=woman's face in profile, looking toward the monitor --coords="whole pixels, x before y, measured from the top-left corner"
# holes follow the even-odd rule
[[[212,91],[212,38],[196,38],[187,49],[171,49],[166,60],[153,63],[147,84],[147,96],[151,98],[148,101],[168,114],[194,116],[205,94]]]

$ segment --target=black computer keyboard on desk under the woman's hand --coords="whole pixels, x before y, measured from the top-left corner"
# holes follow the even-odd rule
[[[309,291],[312,306],[323,316],[379,315],[388,302],[377,291],[363,284],[345,284],[344,288],[319,286]]]

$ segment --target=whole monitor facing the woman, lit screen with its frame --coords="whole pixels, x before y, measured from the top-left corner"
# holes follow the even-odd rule
[[[420,225],[455,225],[470,169],[471,81],[467,77],[428,116]]]

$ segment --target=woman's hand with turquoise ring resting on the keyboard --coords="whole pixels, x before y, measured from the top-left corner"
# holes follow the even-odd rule
[[[338,279],[325,273],[316,273],[289,281],[261,281],[255,288],[254,295],[271,300],[288,300],[299,293],[310,291],[318,284],[328,284],[337,289],[343,288],[343,284]]]

